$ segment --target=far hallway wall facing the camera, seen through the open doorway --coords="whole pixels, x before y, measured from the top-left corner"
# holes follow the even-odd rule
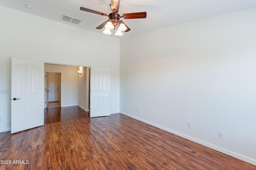
[[[78,106],[78,67],[44,64],[45,72],[61,73],[61,107]]]

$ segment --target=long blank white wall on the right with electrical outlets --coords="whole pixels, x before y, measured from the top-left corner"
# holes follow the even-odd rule
[[[256,164],[255,18],[250,8],[121,39],[121,113]]]

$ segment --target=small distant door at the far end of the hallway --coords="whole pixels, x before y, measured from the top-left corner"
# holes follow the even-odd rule
[[[49,74],[49,102],[59,101],[59,75]]]

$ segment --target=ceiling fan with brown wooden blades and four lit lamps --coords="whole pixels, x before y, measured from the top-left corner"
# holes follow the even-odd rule
[[[103,33],[106,35],[111,35],[112,33],[110,30],[118,28],[115,35],[121,36],[121,35],[123,35],[122,31],[128,32],[131,30],[122,20],[120,20],[121,18],[123,18],[123,19],[146,18],[147,13],[146,12],[134,12],[134,13],[123,14],[122,16],[120,16],[118,14],[119,4],[120,4],[120,0],[111,0],[110,6],[111,6],[112,13],[110,13],[110,14],[105,14],[103,12],[98,12],[98,11],[84,8],[84,7],[80,7],[80,10],[86,11],[86,12],[91,12],[94,14],[99,14],[102,16],[107,16],[108,20],[105,21],[104,23],[100,24],[98,27],[96,27],[96,29],[102,29],[103,27],[105,27],[105,30],[103,31]]]

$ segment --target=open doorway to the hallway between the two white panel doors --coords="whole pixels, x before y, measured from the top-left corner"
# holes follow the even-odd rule
[[[44,109],[45,124],[89,117],[89,68],[90,67],[63,64],[44,64],[45,75],[48,77],[48,79],[45,78],[45,89],[50,92],[52,91],[50,86],[46,86],[51,84],[47,81],[51,79],[51,75],[54,77],[54,75],[58,73],[60,85],[55,86],[53,90],[61,92],[59,97],[61,105],[57,107],[51,107],[51,104],[56,104],[58,99],[53,98],[51,100],[50,92],[45,96],[45,99],[47,99],[48,96],[48,107]],[[78,74],[78,71],[80,71],[80,74]]]

